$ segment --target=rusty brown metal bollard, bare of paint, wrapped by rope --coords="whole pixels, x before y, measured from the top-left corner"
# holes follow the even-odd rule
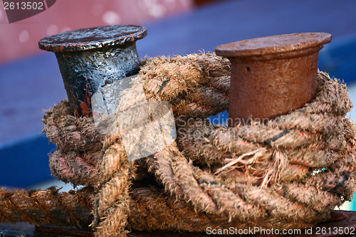
[[[229,127],[266,121],[315,98],[319,51],[330,33],[292,33],[216,47],[231,61]]]

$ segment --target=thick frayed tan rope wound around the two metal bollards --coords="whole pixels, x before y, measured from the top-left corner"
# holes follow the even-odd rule
[[[96,236],[125,236],[125,227],[303,228],[328,220],[355,192],[346,86],[319,72],[318,94],[305,107],[266,124],[225,128],[204,119],[228,108],[229,73],[229,61],[211,53],[146,60],[146,98],[172,104],[178,138],[133,165],[120,135],[99,135],[92,118],[74,117],[60,102],[43,120],[58,145],[51,171],[86,187],[63,194],[1,189],[0,221],[86,227],[94,219]],[[130,107],[142,98],[134,85],[122,100]],[[165,190],[137,186],[150,174]]]

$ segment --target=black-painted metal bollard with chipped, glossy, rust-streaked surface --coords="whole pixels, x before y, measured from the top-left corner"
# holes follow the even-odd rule
[[[138,73],[135,42],[146,35],[142,26],[101,26],[48,36],[38,46],[56,53],[75,115],[92,116],[90,98],[98,88]]]

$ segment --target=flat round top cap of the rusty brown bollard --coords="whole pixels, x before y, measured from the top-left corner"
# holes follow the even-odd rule
[[[251,57],[267,56],[272,54],[290,53],[307,48],[321,47],[323,44],[330,43],[330,33],[309,32],[309,33],[290,33],[281,36],[268,36],[252,38],[234,43],[226,43],[215,48],[219,56],[225,57]],[[320,50],[320,48],[319,48]]]

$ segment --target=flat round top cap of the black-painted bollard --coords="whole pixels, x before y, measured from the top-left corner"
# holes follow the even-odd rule
[[[38,46],[45,51],[52,52],[85,51],[134,43],[146,35],[147,30],[143,26],[100,26],[47,36],[38,41]]]

